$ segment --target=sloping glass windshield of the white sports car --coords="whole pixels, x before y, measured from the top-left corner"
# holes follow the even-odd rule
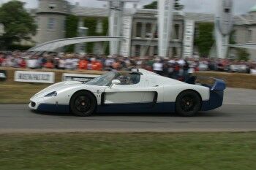
[[[102,76],[96,77],[95,79],[86,82],[86,85],[98,85],[98,86],[108,86],[111,84],[112,80],[118,77],[119,73],[116,72],[108,72],[107,74],[103,74]]]

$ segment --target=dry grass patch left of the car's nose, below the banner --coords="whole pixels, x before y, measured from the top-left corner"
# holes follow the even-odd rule
[[[29,83],[0,83],[0,104],[28,104],[29,98],[49,85]],[[1,170],[1,169],[0,169]]]

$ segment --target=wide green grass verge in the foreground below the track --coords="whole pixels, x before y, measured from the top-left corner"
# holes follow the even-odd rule
[[[0,169],[255,170],[256,133],[6,134]]]

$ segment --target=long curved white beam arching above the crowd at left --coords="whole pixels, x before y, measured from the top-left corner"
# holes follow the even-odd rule
[[[37,45],[32,47],[28,51],[54,51],[60,47],[65,47],[67,45],[75,45],[84,42],[112,42],[112,41],[125,41],[122,36],[83,36],[83,37],[75,37],[69,39],[57,39],[50,42],[45,42],[41,45]]]

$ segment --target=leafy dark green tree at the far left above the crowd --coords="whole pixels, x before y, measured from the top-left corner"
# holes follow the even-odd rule
[[[9,48],[13,43],[29,40],[36,34],[34,18],[24,9],[21,1],[9,1],[0,7],[0,23],[4,24],[5,34],[0,36],[0,47]]]

